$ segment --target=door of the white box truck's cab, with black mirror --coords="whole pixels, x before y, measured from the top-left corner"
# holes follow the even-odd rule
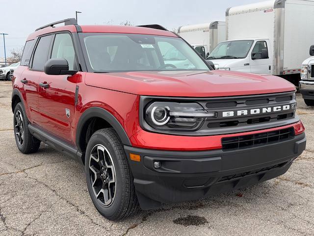
[[[272,59],[266,40],[257,41],[250,56],[251,72],[255,74],[271,74]]]

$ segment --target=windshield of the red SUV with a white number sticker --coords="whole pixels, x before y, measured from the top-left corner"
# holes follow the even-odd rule
[[[82,33],[88,69],[94,72],[209,70],[181,38],[144,34]]]

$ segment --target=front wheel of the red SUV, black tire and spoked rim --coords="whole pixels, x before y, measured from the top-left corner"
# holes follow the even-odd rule
[[[90,197],[109,220],[135,213],[139,204],[123,145],[112,128],[96,131],[85,154],[85,174]]]

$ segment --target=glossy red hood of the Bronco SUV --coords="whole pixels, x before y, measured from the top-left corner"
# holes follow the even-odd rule
[[[295,90],[291,83],[277,76],[219,70],[87,73],[85,83],[138,95],[172,97],[221,97]]]

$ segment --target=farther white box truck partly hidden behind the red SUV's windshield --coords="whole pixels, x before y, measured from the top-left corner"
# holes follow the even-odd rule
[[[226,40],[226,22],[181,26],[178,34],[206,58],[218,43]]]

